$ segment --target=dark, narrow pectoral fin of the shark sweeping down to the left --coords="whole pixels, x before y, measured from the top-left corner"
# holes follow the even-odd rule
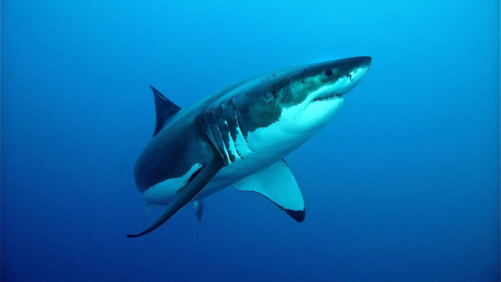
[[[188,183],[177,191],[176,198],[174,198],[167,209],[148,228],[138,234],[127,234],[127,237],[132,238],[148,234],[169,220],[177,211],[191,201],[222,167],[222,160],[214,160],[212,163],[200,167],[193,173]]]

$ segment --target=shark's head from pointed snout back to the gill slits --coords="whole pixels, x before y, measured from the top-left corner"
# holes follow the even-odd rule
[[[284,150],[291,151],[303,144],[339,111],[344,94],[364,78],[371,61],[371,57],[346,58],[260,77],[250,94],[235,97],[236,103],[247,103],[240,107],[239,118],[251,149],[267,144],[276,150],[288,144]]]

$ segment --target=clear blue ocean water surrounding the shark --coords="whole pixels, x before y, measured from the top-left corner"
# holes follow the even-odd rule
[[[498,1],[2,1],[2,281],[498,281]],[[149,84],[185,107],[283,67],[372,56],[286,157],[297,223],[254,193],[154,232],[133,168]]]

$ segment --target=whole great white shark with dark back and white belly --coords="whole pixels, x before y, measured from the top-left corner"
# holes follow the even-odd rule
[[[298,222],[301,191],[284,157],[322,129],[370,68],[353,57],[284,68],[245,79],[180,108],[151,87],[153,138],[139,156],[135,180],[147,204],[167,205],[145,235],[194,202],[228,186],[262,194]]]

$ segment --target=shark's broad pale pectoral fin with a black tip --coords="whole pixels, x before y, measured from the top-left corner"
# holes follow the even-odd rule
[[[273,201],[297,222],[305,219],[305,201],[294,176],[282,159],[269,168],[233,184],[239,191],[260,193]]]

